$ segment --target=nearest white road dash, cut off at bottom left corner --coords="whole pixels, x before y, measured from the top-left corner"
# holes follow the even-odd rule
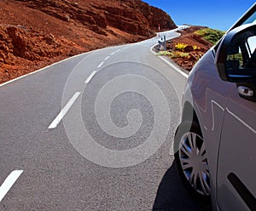
[[[23,170],[14,170],[9,174],[9,176],[3,181],[3,184],[0,186],[0,202],[3,200],[3,197],[8,193],[11,187],[15,184],[15,181],[18,180],[20,174],[23,173]]]

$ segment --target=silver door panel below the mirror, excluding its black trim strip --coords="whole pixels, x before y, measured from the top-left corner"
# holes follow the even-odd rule
[[[228,179],[229,174],[236,174],[256,196],[255,114],[256,103],[242,99],[237,88],[233,88],[225,110],[218,157],[218,206],[221,210],[250,210],[236,191],[236,185]]]

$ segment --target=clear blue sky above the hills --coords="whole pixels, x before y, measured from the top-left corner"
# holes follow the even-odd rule
[[[255,0],[143,0],[170,14],[177,25],[208,26],[227,31]]]

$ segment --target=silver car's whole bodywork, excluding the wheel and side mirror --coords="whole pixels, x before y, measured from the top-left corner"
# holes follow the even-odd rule
[[[247,23],[256,23],[256,3],[230,30]],[[222,39],[230,36],[227,33]],[[254,48],[255,39],[253,42]],[[239,83],[221,79],[216,58],[218,49],[227,48],[227,44],[220,40],[190,71],[181,121],[196,122],[201,128],[210,171],[212,209],[256,210],[256,102],[238,94]],[[250,83],[255,85],[256,81]],[[247,82],[242,85],[247,86]]]

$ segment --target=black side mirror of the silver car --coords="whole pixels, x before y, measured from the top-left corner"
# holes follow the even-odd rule
[[[215,57],[224,81],[256,82],[256,25],[239,26],[225,35]]]

